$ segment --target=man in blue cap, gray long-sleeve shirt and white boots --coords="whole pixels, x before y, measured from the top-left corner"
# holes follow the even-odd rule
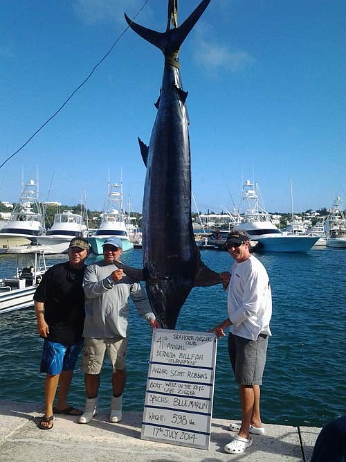
[[[111,237],[104,241],[103,260],[89,265],[84,274],[85,294],[84,347],[82,371],[86,388],[86,406],[79,423],[89,423],[98,405],[100,371],[107,353],[113,368],[110,422],[122,419],[122,392],[126,381],[125,357],[129,330],[128,299],[152,328],[158,327],[147,294],[139,283],[114,266],[120,259],[122,242]]]

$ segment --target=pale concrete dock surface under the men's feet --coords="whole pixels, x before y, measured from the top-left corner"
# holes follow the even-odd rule
[[[209,450],[140,439],[141,412],[124,412],[118,424],[109,423],[109,410],[100,410],[88,425],[75,416],[57,415],[51,430],[37,427],[42,404],[0,401],[1,462],[221,462],[303,461],[311,459],[320,433],[316,427],[264,424],[266,434],[253,436],[243,454],[224,452],[235,433],[230,420],[212,419]]]

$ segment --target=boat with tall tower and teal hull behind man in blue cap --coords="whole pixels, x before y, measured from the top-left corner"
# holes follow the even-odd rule
[[[108,195],[101,222],[93,236],[89,238],[93,254],[102,255],[104,240],[116,236],[122,241],[122,251],[131,250],[134,244],[129,240],[125,213],[122,210],[122,185],[115,183],[108,186]]]

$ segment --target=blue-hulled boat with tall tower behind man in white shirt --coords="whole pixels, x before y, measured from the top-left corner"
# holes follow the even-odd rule
[[[258,242],[257,249],[272,252],[307,252],[317,242],[318,236],[298,236],[282,232],[271,221],[271,216],[264,206],[259,205],[258,193],[254,184],[246,180],[242,191],[244,213],[236,229],[246,231],[251,240]],[[243,206],[244,208],[244,206]]]

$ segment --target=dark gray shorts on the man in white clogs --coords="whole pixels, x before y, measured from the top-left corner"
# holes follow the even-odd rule
[[[242,385],[262,385],[267,346],[268,335],[260,334],[257,340],[249,340],[230,333],[228,353],[235,382]]]

